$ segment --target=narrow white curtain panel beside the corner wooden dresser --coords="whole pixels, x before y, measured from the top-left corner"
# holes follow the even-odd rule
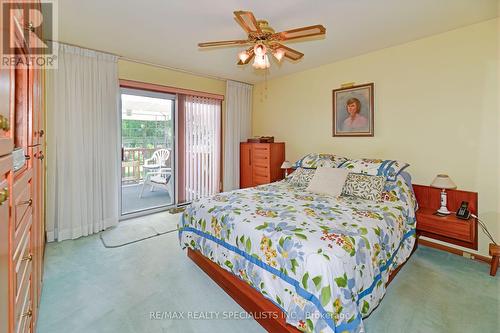
[[[240,142],[252,135],[252,89],[246,83],[226,83],[224,191],[240,187]]]

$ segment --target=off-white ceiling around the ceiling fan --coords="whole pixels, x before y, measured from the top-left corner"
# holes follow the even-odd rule
[[[139,61],[248,83],[264,80],[238,66],[244,47],[199,49],[198,42],[244,39],[233,18],[250,10],[276,30],[323,24],[326,37],[287,46],[296,63],[271,61],[268,78],[445,32],[498,15],[497,0],[63,0],[59,40]]]

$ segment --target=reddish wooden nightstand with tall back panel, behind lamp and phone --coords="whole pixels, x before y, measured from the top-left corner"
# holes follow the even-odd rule
[[[450,214],[437,216],[441,191],[430,186],[413,185],[419,209],[417,211],[417,237],[425,236],[450,244],[477,250],[477,220],[461,220]],[[469,203],[469,210],[477,215],[477,193],[448,190],[448,208],[456,211],[462,201]]]

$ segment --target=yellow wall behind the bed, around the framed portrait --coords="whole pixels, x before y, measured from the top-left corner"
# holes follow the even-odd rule
[[[398,159],[417,184],[447,173],[479,192],[480,217],[500,240],[498,21],[273,79],[267,93],[260,83],[253,135],[285,141],[290,161],[308,152]],[[332,89],[352,81],[375,84],[373,138],[332,137]]]

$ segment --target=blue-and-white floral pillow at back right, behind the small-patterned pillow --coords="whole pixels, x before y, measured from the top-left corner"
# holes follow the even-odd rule
[[[401,171],[410,166],[408,163],[394,160],[357,159],[348,160],[339,168],[348,169],[352,173],[362,173],[370,176],[384,176],[387,180],[394,181]]]

